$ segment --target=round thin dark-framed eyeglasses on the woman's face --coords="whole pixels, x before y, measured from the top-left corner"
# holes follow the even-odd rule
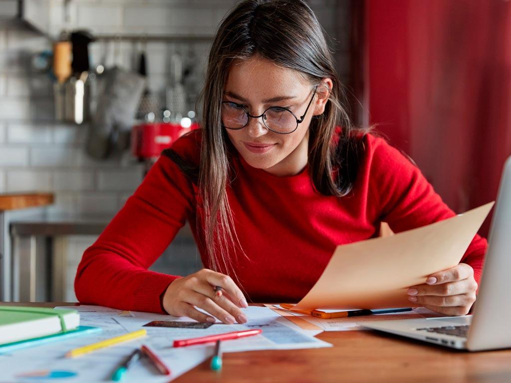
[[[264,125],[272,132],[279,134],[293,133],[298,128],[298,124],[304,122],[305,115],[311,106],[314,94],[316,94],[316,89],[317,86],[314,87],[314,93],[312,93],[311,101],[309,101],[307,109],[305,109],[304,115],[301,116],[300,119],[298,119],[288,108],[281,106],[270,106],[262,114],[252,116],[247,112],[243,105],[231,101],[223,101],[220,112],[222,126],[231,130],[243,129],[248,125],[250,117],[263,117]]]

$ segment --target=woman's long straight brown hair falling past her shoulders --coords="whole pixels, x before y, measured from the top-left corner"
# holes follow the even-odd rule
[[[211,47],[203,102],[199,195],[204,212],[205,249],[212,269],[227,272],[227,255],[238,247],[226,187],[233,179],[233,148],[221,127],[220,105],[230,64],[258,57],[294,69],[311,85],[330,78],[333,88],[321,115],[309,127],[308,163],[311,181],[324,196],[343,197],[352,190],[363,142],[346,109],[345,93],[319,22],[303,0],[246,0],[222,20]],[[321,91],[318,88],[318,91]],[[328,90],[327,90],[328,91]],[[339,140],[334,145],[336,126]],[[236,150],[236,149],[234,149]],[[233,269],[234,270],[234,269]]]

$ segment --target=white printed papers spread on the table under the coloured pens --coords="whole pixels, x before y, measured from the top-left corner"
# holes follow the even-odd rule
[[[223,351],[331,346],[329,343],[298,331],[292,323],[269,308],[251,306],[244,309],[245,315],[249,319],[246,325],[215,324],[207,329],[144,327],[148,330],[148,336],[144,338],[124,342],[76,358],[65,358],[64,354],[68,350],[139,329],[140,326],[152,320],[192,321],[190,318],[175,318],[168,315],[138,312],[127,313],[100,306],[73,306],[72,308],[79,310],[82,324],[100,326],[103,331],[99,334],[91,334],[0,355],[0,371],[2,371],[0,381],[33,382],[34,378],[28,377],[27,374],[46,371],[53,371],[54,373],[60,371],[74,375],[59,379],[37,378],[36,381],[44,383],[54,383],[55,381],[64,383],[108,381],[115,368],[135,347],[148,344],[169,366],[172,374],[170,376],[159,374],[144,358],[133,367],[130,367],[123,378],[123,382],[164,383],[194,368],[211,357],[214,352],[214,344],[173,348],[172,341],[174,339],[200,337],[208,333],[247,328],[262,328],[264,336],[258,335],[226,341],[223,343]]]

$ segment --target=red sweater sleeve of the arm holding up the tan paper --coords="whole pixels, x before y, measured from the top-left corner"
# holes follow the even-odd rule
[[[373,197],[379,201],[381,221],[394,232],[413,229],[442,221],[456,214],[435,193],[432,185],[399,150],[384,139],[370,137],[369,179],[373,179]],[[479,284],[486,253],[485,238],[476,234],[461,258],[462,263],[474,269]]]

